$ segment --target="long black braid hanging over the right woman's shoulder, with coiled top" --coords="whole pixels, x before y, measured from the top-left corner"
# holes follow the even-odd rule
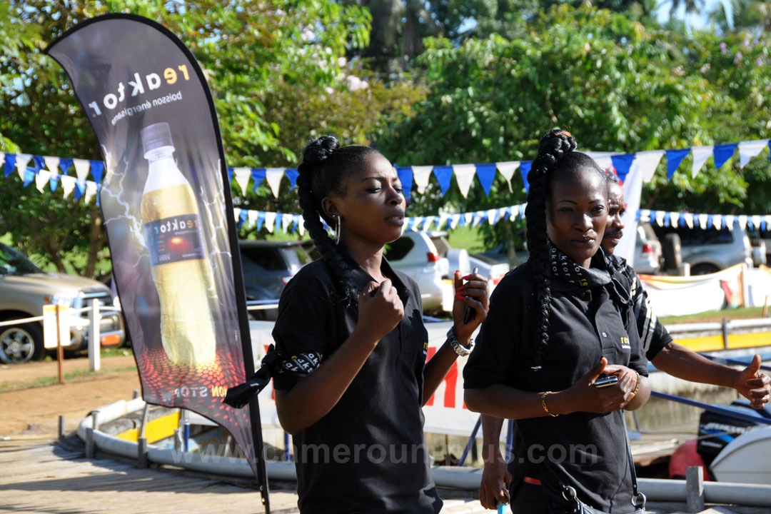
[[[527,249],[530,251],[528,263],[533,273],[534,297],[530,301],[533,312],[534,368],[540,367],[541,358],[549,344],[549,317],[551,311],[551,273],[549,240],[547,236],[546,203],[549,195],[549,182],[554,166],[567,152],[576,148],[576,141],[570,133],[554,129],[540,140],[538,156],[533,160],[527,182]]]

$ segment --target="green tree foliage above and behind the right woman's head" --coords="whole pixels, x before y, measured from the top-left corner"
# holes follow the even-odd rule
[[[563,5],[541,15],[527,37],[492,35],[460,47],[436,39],[428,46],[419,59],[428,96],[416,116],[392,123],[377,138],[402,166],[531,160],[541,134],[553,126],[570,129],[581,149],[625,153],[769,136],[764,41],[651,30],[607,10]],[[749,176],[729,165],[719,172],[710,166],[696,180],[688,168],[669,182],[662,163],[643,207],[718,212],[719,205],[746,212]],[[752,180],[766,180],[768,166],[757,166]],[[450,196],[445,207],[523,202],[516,184],[510,193],[499,178],[490,198],[476,187],[468,200]],[[436,212],[443,201],[436,190],[434,184],[410,212]]]

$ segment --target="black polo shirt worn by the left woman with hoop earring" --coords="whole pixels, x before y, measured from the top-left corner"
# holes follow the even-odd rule
[[[354,260],[346,261],[363,290],[372,277]],[[332,411],[295,435],[298,505],[304,513],[434,513],[442,508],[423,437],[428,332],[420,292],[385,258],[381,270],[399,292],[404,318],[378,343]],[[308,362],[323,365],[359,318],[356,306],[345,306],[339,297],[322,260],[301,268],[281,294],[276,348],[307,354]],[[281,373],[274,387],[291,389],[306,375]]]

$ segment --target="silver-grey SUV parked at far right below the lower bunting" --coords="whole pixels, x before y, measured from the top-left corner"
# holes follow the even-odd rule
[[[659,240],[668,233],[677,233],[682,245],[682,262],[691,265],[692,275],[703,275],[724,270],[734,264],[746,264],[753,267],[752,245],[747,233],[734,223],[732,228],[724,227],[658,227],[653,230]],[[666,257],[665,257],[666,258]]]

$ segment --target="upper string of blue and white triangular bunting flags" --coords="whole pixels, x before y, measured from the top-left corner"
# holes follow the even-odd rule
[[[666,160],[667,178],[672,180],[672,176],[679,169],[685,157],[691,154],[693,156],[691,177],[695,178],[702,170],[702,167],[712,157],[715,163],[715,169],[720,170],[734,154],[739,153],[739,168],[742,169],[752,158],[756,157],[769,146],[769,139],[757,139],[754,141],[742,141],[741,143],[724,143],[714,146],[692,146],[682,149],[659,149],[646,150],[636,153],[614,153],[614,152],[588,152],[603,168],[613,168],[619,179],[623,182],[631,170],[632,164],[636,163],[641,170],[643,181],[648,182],[653,177],[662,158]],[[771,153],[769,153],[771,161]],[[62,191],[65,196],[72,192],[72,188],[65,176],[71,176],[70,169],[74,168],[74,176],[79,188],[86,190],[89,183],[89,176],[93,183],[99,184],[103,180],[105,164],[100,160],[68,159],[56,156],[35,156],[25,153],[13,154],[0,152],[0,166],[4,170],[7,178],[16,172],[25,186],[35,183],[35,187],[41,192],[45,188],[45,183],[49,184],[51,191],[58,189],[59,182],[62,182]],[[479,182],[486,196],[490,196],[493,182],[497,173],[506,180],[509,190],[513,190],[511,180],[517,170],[524,185],[524,190],[528,190],[527,173],[530,172],[532,161],[505,161],[499,163],[478,163],[478,164],[452,164],[437,166],[396,166],[396,173],[402,181],[405,196],[410,197],[412,187],[415,186],[418,193],[423,194],[429,186],[431,176],[433,175],[442,194],[446,194],[452,184],[453,176],[463,197],[467,197],[474,177]],[[251,168],[235,167],[228,168],[228,175],[231,181],[235,180],[237,190],[241,194],[246,194],[250,188],[256,191],[262,183],[267,183],[268,189],[273,196],[278,198],[281,190],[281,183],[284,177],[288,180],[290,189],[294,188],[297,180],[298,171],[294,168]],[[40,176],[42,174],[42,177]],[[89,195],[81,195],[88,198]]]

